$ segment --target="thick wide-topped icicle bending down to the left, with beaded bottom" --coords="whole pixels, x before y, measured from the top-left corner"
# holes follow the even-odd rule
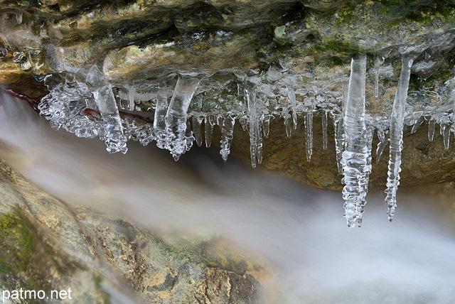
[[[188,75],[180,75],[176,88],[173,91],[168,111],[166,112],[166,134],[170,138],[169,151],[174,158],[178,158],[186,151],[186,112],[198,88],[200,79]]]

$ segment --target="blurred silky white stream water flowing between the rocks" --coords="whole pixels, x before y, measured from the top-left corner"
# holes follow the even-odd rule
[[[109,154],[7,96],[0,157],[71,204],[149,229],[219,235],[262,256],[274,270],[266,286],[279,290],[273,303],[455,303],[455,232],[414,190],[400,189],[393,223],[383,195],[369,193],[363,227],[348,229],[341,193],[223,163],[218,151],[193,148],[178,163],[154,145]]]

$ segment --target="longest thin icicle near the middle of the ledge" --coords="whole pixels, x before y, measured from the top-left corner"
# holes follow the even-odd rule
[[[262,163],[262,136],[256,109],[256,89],[257,85],[247,80],[245,93],[248,101],[248,116],[250,117],[250,155],[253,168],[256,168],[256,161]]]

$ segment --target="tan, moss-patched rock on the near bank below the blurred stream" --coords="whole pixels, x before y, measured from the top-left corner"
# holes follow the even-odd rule
[[[0,239],[2,290],[70,291],[58,303],[264,303],[252,276],[262,266],[217,239],[160,237],[90,207],[68,207],[3,162]]]

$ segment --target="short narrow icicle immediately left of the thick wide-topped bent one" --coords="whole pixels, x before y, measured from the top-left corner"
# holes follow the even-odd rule
[[[168,92],[166,82],[161,81],[159,83],[158,98],[156,99],[156,109],[154,118],[154,133],[156,138],[156,146],[161,149],[168,147],[168,141],[166,136],[166,121],[164,117],[168,111]]]

